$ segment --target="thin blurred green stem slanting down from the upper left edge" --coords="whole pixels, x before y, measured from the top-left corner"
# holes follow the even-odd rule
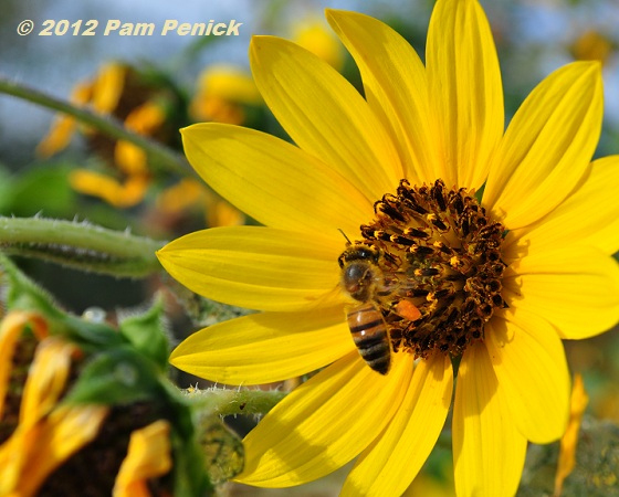
[[[33,104],[39,104],[43,107],[69,114],[81,123],[92,126],[112,138],[130,141],[145,150],[153,160],[153,163],[164,167],[167,170],[175,171],[183,176],[193,173],[193,170],[185,157],[180,154],[170,150],[150,138],[129,131],[122,123],[112,116],[102,116],[93,113],[92,110],[75,107],[67,102],[54,98],[39,92],[38,89],[12,82],[2,75],[0,75],[0,93],[23,98],[24,101],[32,102]]]

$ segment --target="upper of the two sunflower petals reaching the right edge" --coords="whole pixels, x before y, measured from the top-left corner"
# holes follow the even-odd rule
[[[619,251],[617,184],[619,156],[595,160],[571,195],[546,218],[515,233],[515,239],[535,250],[578,243],[615,254]]]

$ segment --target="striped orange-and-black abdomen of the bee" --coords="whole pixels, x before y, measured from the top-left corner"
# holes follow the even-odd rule
[[[391,347],[380,311],[373,304],[364,304],[350,309],[347,319],[361,358],[375,371],[387,374],[391,366]]]

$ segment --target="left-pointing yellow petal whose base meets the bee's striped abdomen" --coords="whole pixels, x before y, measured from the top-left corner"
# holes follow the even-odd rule
[[[315,371],[355,349],[342,306],[243,316],[195,332],[171,353],[177,368],[227,384],[261,384]]]

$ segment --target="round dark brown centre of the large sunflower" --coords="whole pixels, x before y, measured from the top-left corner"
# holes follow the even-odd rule
[[[354,338],[374,327],[386,330],[394,350],[460,356],[483,339],[494,310],[505,307],[503,225],[472,192],[449,190],[442,180],[411,187],[403,179],[397,194],[385,194],[374,208],[376,219],[360,226],[363,240],[339,256],[342,287],[359,303],[348,315]],[[374,320],[364,321],[360,313]]]

